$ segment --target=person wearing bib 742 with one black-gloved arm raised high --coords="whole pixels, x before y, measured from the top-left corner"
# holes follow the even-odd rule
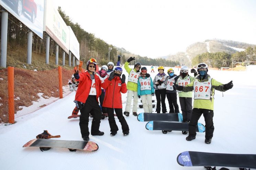
[[[138,107],[138,78],[140,77],[140,69],[141,63],[135,63],[134,69],[129,67],[129,63],[135,60],[135,57],[130,57],[127,59],[127,62],[124,63],[124,68],[129,74],[128,83],[127,83],[127,99],[126,99],[126,106],[124,115],[129,116],[131,111],[131,103],[132,103],[132,96],[133,96],[133,108],[132,114],[134,116],[138,116],[137,114],[137,107]]]

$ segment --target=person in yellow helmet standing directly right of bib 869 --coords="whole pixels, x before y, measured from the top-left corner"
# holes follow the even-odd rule
[[[154,78],[154,88],[156,94],[156,112],[160,113],[161,103],[162,103],[162,112],[166,113],[166,105],[165,105],[165,96],[166,96],[166,85],[168,76],[164,73],[164,66],[158,67],[158,74]]]

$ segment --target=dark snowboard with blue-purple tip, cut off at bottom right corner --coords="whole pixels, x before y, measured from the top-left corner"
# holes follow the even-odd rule
[[[252,154],[220,154],[196,151],[185,151],[177,156],[181,166],[215,166],[256,168],[256,155]]]

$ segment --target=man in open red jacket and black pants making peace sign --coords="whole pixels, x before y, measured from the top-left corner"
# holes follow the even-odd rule
[[[96,64],[96,59],[92,58],[86,64],[86,72],[79,74],[78,71],[75,71],[76,73],[74,74],[75,79],[79,81],[75,103],[81,113],[79,126],[84,141],[89,141],[89,114],[93,117],[91,135],[104,135],[104,132],[99,131],[102,115],[98,102],[98,98],[101,95],[101,81],[100,78],[94,74]]]

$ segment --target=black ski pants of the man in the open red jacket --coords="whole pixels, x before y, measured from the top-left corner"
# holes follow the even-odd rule
[[[92,115],[92,123],[91,123],[91,134],[98,134],[100,128],[100,120],[101,120],[101,110],[99,103],[97,102],[96,96],[89,95],[84,107],[80,110],[81,116],[79,121],[80,131],[82,137],[89,136],[89,114]]]

